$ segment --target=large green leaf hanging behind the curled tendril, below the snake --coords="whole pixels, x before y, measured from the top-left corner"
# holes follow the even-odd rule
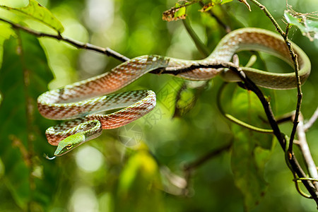
[[[260,122],[263,108],[254,93],[239,88],[232,98],[235,114],[249,122]],[[239,115],[240,114],[240,115]],[[231,166],[235,185],[244,196],[246,211],[257,206],[264,196],[267,183],[264,180],[264,165],[269,160],[273,143],[272,136],[259,134],[241,126],[232,127],[235,141],[232,147]]]

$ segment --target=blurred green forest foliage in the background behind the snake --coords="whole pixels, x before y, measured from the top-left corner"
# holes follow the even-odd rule
[[[49,8],[64,25],[62,35],[74,40],[110,47],[129,58],[143,54],[182,59],[204,57],[196,49],[182,20],[169,23],[162,20],[163,11],[174,6],[174,0],[38,2]],[[0,3],[19,7],[27,5],[28,1]],[[261,3],[284,29],[285,1]],[[318,10],[317,0],[290,0],[288,4],[302,13]],[[232,1],[212,10],[232,30],[257,27],[274,31],[264,13],[252,3],[251,6],[252,12],[249,12],[244,4]],[[212,50],[226,32],[208,13],[199,12],[200,8],[199,4],[187,8],[187,20],[208,49]],[[15,23],[23,22],[35,30],[54,33],[35,20],[24,20],[2,9],[0,17]],[[30,105],[35,105],[37,95],[47,88],[59,88],[96,76],[117,66],[120,61],[50,38],[40,38],[40,44],[37,44],[31,35],[21,33],[20,36],[25,44],[27,68],[23,68],[23,63],[18,64],[18,45],[16,39],[11,37],[4,43],[4,61],[0,71],[0,91],[3,95],[0,105],[0,211],[244,210],[244,196],[233,179],[231,164],[235,161],[231,162],[231,151],[223,151],[197,167],[189,177],[187,191],[182,189],[187,178],[184,165],[230,142],[235,143],[238,132],[242,130],[225,119],[216,107],[221,78],[209,81],[199,94],[195,88],[202,83],[188,82],[188,89],[182,93],[183,102],[179,104],[180,107],[187,105],[196,97],[195,105],[181,117],[172,118],[175,97],[184,81],[173,76],[146,74],[123,90],[154,90],[158,98],[155,110],[120,129],[105,130],[98,139],[66,155],[46,160],[43,153],[52,155],[55,147],[47,143],[45,129],[57,122],[40,117],[36,107],[28,108],[23,104],[30,100]],[[309,119],[318,105],[318,42],[310,42],[296,28],[290,31],[290,40],[302,47],[312,61],[312,73],[302,86],[302,114]],[[246,64],[249,55],[240,54],[241,64]],[[281,66],[281,61],[265,54],[262,57],[269,70]],[[268,58],[271,60],[267,61]],[[258,62],[257,66],[264,64]],[[30,77],[30,82],[26,83],[25,71],[21,70],[37,70],[37,76]],[[226,105],[227,111],[233,114],[235,110],[245,111],[245,114],[237,112],[237,116],[250,121],[249,116],[253,117],[254,111],[249,111],[248,106],[238,108],[237,104],[244,104],[244,100],[233,98],[231,94],[242,95],[242,90],[235,85],[228,89],[228,95],[223,95],[223,107]],[[295,110],[295,89],[263,90],[271,95],[271,104],[277,116]],[[252,124],[269,128],[261,119],[255,121],[258,115],[264,117],[261,109],[254,114]],[[318,157],[317,126],[314,124],[307,132],[314,159]],[[281,129],[290,134],[292,125],[283,124]],[[271,144],[271,136],[248,135],[245,134],[245,137],[253,142],[266,141]],[[270,146],[268,149],[269,160],[264,167],[265,195],[252,211],[315,211],[317,206],[314,201],[296,192],[283,151],[275,143],[273,148]]]

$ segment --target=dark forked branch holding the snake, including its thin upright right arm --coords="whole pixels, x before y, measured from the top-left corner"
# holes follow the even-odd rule
[[[267,11],[267,9],[262,6],[261,4],[259,4],[258,1],[256,0],[251,0],[253,1],[255,4],[259,5],[259,7],[266,13],[266,16],[269,16],[269,18],[271,19],[272,23],[276,26],[276,30],[278,30],[279,33],[281,33],[281,35],[284,37],[286,45],[288,46],[288,48],[290,49],[290,54],[292,55],[292,59],[295,62],[295,71],[296,71],[296,76],[297,76],[297,71],[298,71],[298,66],[297,66],[297,56],[295,56],[295,54],[293,53],[293,50],[290,48],[290,42],[288,41],[287,35],[283,32],[283,30],[281,30],[281,28],[279,27],[278,23],[276,23],[276,20],[273,19],[273,17],[271,16],[271,14],[269,13],[269,11]],[[102,48],[102,47],[97,47],[95,45],[91,45],[88,43],[82,43],[82,42],[78,42],[76,40],[71,40],[70,38],[67,37],[63,37],[62,35],[52,35],[52,34],[48,34],[48,33],[40,33],[37,32],[35,30],[31,30],[29,28],[25,28],[22,25],[18,25],[16,23],[11,23],[8,20],[4,20],[2,18],[0,18],[0,21],[9,23],[12,25],[13,28],[18,28],[20,30],[24,30],[26,33],[29,33],[31,35],[35,35],[36,37],[51,37],[54,38],[56,40],[62,40],[64,42],[69,43],[70,45],[73,45],[74,47],[77,48],[81,48],[81,49],[90,49],[93,50],[95,52],[100,52],[102,54],[106,54],[107,56],[110,57],[114,57],[116,59],[119,59],[120,61],[127,61],[129,60],[127,57],[122,56],[122,54],[119,54],[118,52],[114,52],[112,49],[109,48]],[[288,45],[289,44],[289,45]],[[294,55],[294,57],[293,57]],[[278,124],[273,116],[273,112],[271,111],[271,107],[269,105],[269,102],[267,102],[266,98],[264,98],[263,93],[261,93],[261,90],[259,90],[259,88],[257,88],[257,86],[255,86],[255,84],[249,80],[249,78],[247,78],[245,76],[245,74],[240,70],[240,68],[238,68],[235,65],[232,65],[230,63],[228,64],[197,64],[197,65],[192,65],[187,67],[186,69],[179,69],[178,71],[175,71],[173,69],[167,69],[164,71],[159,71],[158,73],[172,73],[172,74],[177,74],[180,72],[187,72],[187,71],[192,71],[193,69],[199,69],[199,68],[229,68],[232,71],[235,71],[235,73],[238,74],[238,76],[240,76],[240,78],[242,79],[242,81],[245,82],[245,86],[247,87],[247,89],[252,90],[254,93],[257,94],[259,100],[261,100],[261,103],[264,107],[264,110],[266,112],[266,116],[269,119],[269,123],[271,124],[271,127],[273,129],[273,132],[276,136],[276,138],[278,139],[279,143],[281,144],[281,147],[283,148],[283,150],[285,151],[285,138],[282,136],[280,129],[278,128]],[[152,71],[152,73],[156,73],[156,71]],[[297,78],[297,80],[299,81],[299,77]],[[301,90],[300,90],[300,83],[298,83],[298,102],[300,105],[301,102]],[[297,108],[298,112],[300,110],[300,107]],[[298,118],[297,118],[298,119]],[[296,121],[294,122],[294,126],[297,126],[297,119],[295,119]],[[291,140],[291,143],[292,140]],[[316,203],[318,203],[318,192],[317,189],[315,189],[315,187],[313,186],[312,182],[310,182],[309,180],[305,179],[306,175],[305,172],[303,172],[302,168],[300,167],[298,160],[295,158],[295,156],[293,155],[293,152],[290,151],[290,154],[292,155],[292,157],[289,158],[289,162],[290,165],[293,167],[293,170],[297,173],[298,177],[300,177],[300,179],[302,179],[302,183],[305,185],[305,187],[307,188],[307,190],[310,192],[312,198],[316,201]],[[200,164],[200,163],[199,163]]]

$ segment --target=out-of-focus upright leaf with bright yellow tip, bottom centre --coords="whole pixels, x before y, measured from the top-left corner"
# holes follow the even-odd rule
[[[119,176],[118,211],[164,211],[158,176],[158,165],[146,149],[131,155]]]

